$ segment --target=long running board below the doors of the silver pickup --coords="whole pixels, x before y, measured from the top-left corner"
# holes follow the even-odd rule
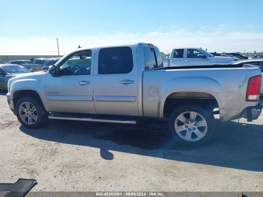
[[[49,113],[49,119],[57,120],[80,120],[90,122],[109,122],[109,123],[124,123],[124,124],[138,124],[137,119],[125,118],[125,116],[108,116],[108,115],[71,115],[64,113]]]

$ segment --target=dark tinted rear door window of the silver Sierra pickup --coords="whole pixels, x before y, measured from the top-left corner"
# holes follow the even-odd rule
[[[133,56],[130,47],[100,49],[99,74],[130,73],[133,69]]]

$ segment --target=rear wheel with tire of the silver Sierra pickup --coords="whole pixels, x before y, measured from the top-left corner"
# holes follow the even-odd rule
[[[214,115],[204,107],[184,105],[171,112],[168,126],[177,143],[192,147],[202,146],[214,135]]]

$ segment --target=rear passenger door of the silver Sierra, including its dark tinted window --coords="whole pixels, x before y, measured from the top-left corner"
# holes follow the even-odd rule
[[[138,116],[136,46],[96,48],[95,59],[97,114]]]

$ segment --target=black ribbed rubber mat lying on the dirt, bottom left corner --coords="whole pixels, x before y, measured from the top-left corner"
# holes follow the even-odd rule
[[[0,197],[23,197],[35,182],[34,179],[18,179],[16,183],[0,183]]]

